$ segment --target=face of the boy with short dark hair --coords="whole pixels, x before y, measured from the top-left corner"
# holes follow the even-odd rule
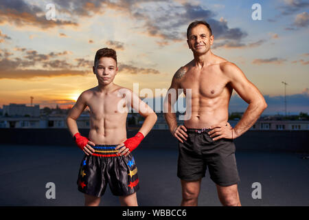
[[[111,57],[101,57],[93,66],[93,74],[97,76],[101,85],[108,85],[113,82],[118,71],[116,61]]]

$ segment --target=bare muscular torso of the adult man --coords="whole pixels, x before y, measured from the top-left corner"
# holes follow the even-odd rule
[[[180,87],[192,89],[191,118],[185,120],[185,126],[201,129],[228,120],[229,100],[233,89],[229,85],[229,78],[222,71],[222,65],[227,61],[219,61],[198,69],[193,62],[183,67],[185,75],[181,78]]]

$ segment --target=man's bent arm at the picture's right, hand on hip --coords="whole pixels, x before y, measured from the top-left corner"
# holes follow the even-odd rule
[[[214,129],[210,132],[211,137],[214,137],[219,134],[218,137],[215,137],[214,140],[218,140],[222,137],[226,138],[236,138],[248,131],[251,126],[258,120],[262,112],[266,109],[267,104],[264,100],[264,97],[260,93],[257,87],[251,83],[244,73],[233,63],[228,63],[222,67],[222,71],[229,78],[229,83],[231,87],[235,89],[240,98],[247,102],[249,106],[247,107],[244,115],[240,121],[236,124],[235,128],[231,131],[225,133],[216,133],[215,126],[210,129]],[[230,135],[232,135],[230,137]]]

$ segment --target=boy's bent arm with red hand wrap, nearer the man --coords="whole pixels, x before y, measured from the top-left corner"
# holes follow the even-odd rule
[[[135,135],[135,137],[131,137],[127,139],[124,143],[119,144],[115,149],[119,149],[117,154],[127,156],[130,152],[132,152],[137,146],[140,144],[141,140],[146,137],[146,135],[150,132],[152,127],[157,122],[157,114],[146,104],[143,102],[139,96],[130,91],[129,89],[126,92],[126,102],[139,112],[139,114],[145,118],[143,125],[139,129],[139,132]],[[126,146],[126,147],[122,147]]]

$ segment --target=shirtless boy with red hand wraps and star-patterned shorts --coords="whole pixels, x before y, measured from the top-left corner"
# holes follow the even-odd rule
[[[139,189],[137,166],[132,152],[149,133],[157,115],[133,91],[115,85],[115,50],[103,48],[95,54],[93,74],[98,86],[80,95],[67,116],[67,127],[85,155],[78,173],[78,190],[84,193],[85,206],[99,206],[107,184],[122,206],[137,206]],[[82,137],[76,120],[90,109],[89,138]],[[145,120],[135,137],[126,139],[126,117],[132,107]]]

